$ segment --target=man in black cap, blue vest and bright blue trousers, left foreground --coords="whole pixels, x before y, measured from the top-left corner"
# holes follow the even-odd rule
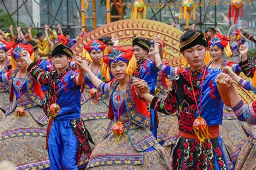
[[[49,124],[46,133],[51,169],[78,169],[77,164],[84,152],[85,159],[91,154],[87,141],[90,134],[80,119],[80,87],[84,83],[84,70],[79,74],[70,70],[72,51],[62,44],[55,44],[52,58],[56,70],[44,72],[29,55],[23,59],[29,64],[28,71],[33,78],[48,86],[49,102],[44,105]]]

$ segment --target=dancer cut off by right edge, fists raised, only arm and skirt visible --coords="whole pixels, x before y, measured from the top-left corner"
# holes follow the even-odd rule
[[[245,105],[241,100],[241,96],[238,94],[237,89],[235,88],[232,81],[240,81],[241,78],[232,72],[232,70],[228,67],[224,69],[227,74],[220,74],[217,77],[217,83],[225,84],[228,94],[230,96],[230,102],[232,105],[232,110],[234,114],[237,115],[239,121],[246,121],[251,126],[251,131],[249,133],[249,137],[246,140],[244,146],[242,146],[241,151],[238,155],[237,162],[235,164],[234,169],[255,169],[255,161],[256,161],[256,148],[255,148],[255,139],[256,139],[256,102],[254,101],[251,104]],[[233,79],[233,80],[232,80]],[[255,82],[245,82],[250,83],[252,91],[256,94],[256,83]]]

